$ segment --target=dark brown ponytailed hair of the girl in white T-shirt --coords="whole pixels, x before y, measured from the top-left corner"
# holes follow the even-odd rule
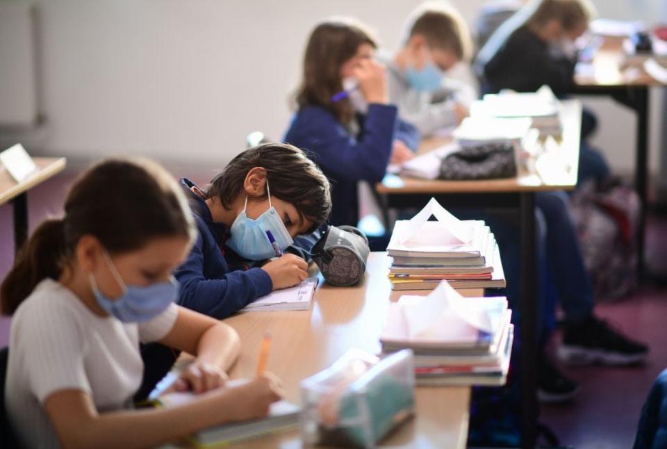
[[[46,220],[21,249],[0,286],[2,313],[14,313],[42,279],[58,279],[76,243],[92,235],[111,254],[143,247],[161,236],[196,237],[183,192],[160,165],[145,159],[110,159],[74,183],[65,216]]]

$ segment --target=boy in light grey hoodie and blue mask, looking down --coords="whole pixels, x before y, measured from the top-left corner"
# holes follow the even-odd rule
[[[425,3],[411,13],[402,47],[381,57],[387,65],[389,101],[422,136],[456,126],[468,115],[477,98],[475,88],[446,73],[469,59],[471,51],[463,17],[446,4]]]

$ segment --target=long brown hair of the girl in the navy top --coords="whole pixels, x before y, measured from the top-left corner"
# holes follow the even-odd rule
[[[315,26],[306,45],[297,106],[320,106],[331,111],[341,123],[349,123],[354,117],[349,99],[332,103],[331,97],[343,90],[340,67],[354,57],[361,44],[377,48],[371,33],[352,19],[327,19]]]

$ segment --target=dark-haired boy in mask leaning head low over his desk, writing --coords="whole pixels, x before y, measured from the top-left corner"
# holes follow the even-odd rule
[[[181,179],[181,186],[199,232],[174,272],[181,283],[179,304],[226,318],[306,278],[304,257],[315,242],[297,236],[327,221],[331,197],[329,181],[302,150],[259,145],[233,158],[206,188],[189,179]],[[263,263],[281,252],[276,247],[295,254]]]

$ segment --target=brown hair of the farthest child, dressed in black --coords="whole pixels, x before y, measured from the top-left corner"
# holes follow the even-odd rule
[[[595,16],[595,7],[588,0],[540,0],[527,25],[541,27],[556,19],[566,31],[587,25]]]

